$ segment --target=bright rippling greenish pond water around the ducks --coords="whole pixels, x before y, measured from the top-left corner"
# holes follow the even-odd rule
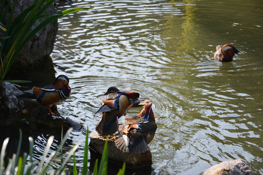
[[[58,20],[51,54],[72,88],[59,112],[84,127],[71,146],[95,130],[115,86],[154,100],[152,175],[198,175],[231,159],[263,174],[262,0],[74,0],[58,10],[73,7],[94,8]],[[240,53],[215,61],[217,43]]]

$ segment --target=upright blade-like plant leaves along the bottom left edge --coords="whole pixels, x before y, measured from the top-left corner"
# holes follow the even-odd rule
[[[70,128],[64,137],[62,138],[62,141],[58,145],[57,149],[53,151],[49,156],[48,152],[50,150],[50,147],[52,145],[52,142],[54,140],[54,136],[50,136],[47,144],[45,151],[43,155],[41,156],[40,162],[38,161],[33,161],[32,160],[32,154],[33,154],[33,138],[29,137],[29,154],[24,153],[23,157],[19,157],[18,155],[20,154],[21,150],[21,144],[22,144],[22,132],[20,130],[20,136],[19,136],[19,144],[18,144],[18,149],[17,153],[13,155],[13,157],[9,160],[7,166],[4,166],[4,155],[5,155],[5,150],[7,147],[7,143],[9,141],[9,138],[6,138],[2,144],[2,149],[0,152],[0,175],[44,175],[47,174],[47,170],[51,164],[53,164],[56,160],[56,156],[59,153],[59,151],[62,150],[62,147],[64,143],[66,142],[66,139],[68,135],[72,132],[72,128]],[[88,144],[88,135],[89,131],[87,129],[86,133],[86,139],[85,139],[85,147],[84,147],[84,157],[83,157],[83,167],[82,167],[82,175],[87,175],[88,174],[88,150],[89,150],[89,144]],[[67,153],[67,154],[62,154],[61,156],[61,166],[56,170],[56,172],[53,172],[55,175],[60,175],[64,174],[65,171],[65,165],[67,164],[69,158],[72,155],[75,155],[75,150],[79,146],[79,144],[83,140],[80,140],[77,142],[77,144],[74,145],[74,147]],[[77,168],[75,164],[75,156],[73,156],[73,174],[77,175]],[[108,142],[106,140],[100,166],[98,168],[98,159],[95,162],[94,165],[94,175],[107,175],[107,165],[108,165]],[[97,169],[99,169],[97,171]],[[123,164],[122,169],[119,170],[117,175],[124,175],[125,173],[125,163]]]

